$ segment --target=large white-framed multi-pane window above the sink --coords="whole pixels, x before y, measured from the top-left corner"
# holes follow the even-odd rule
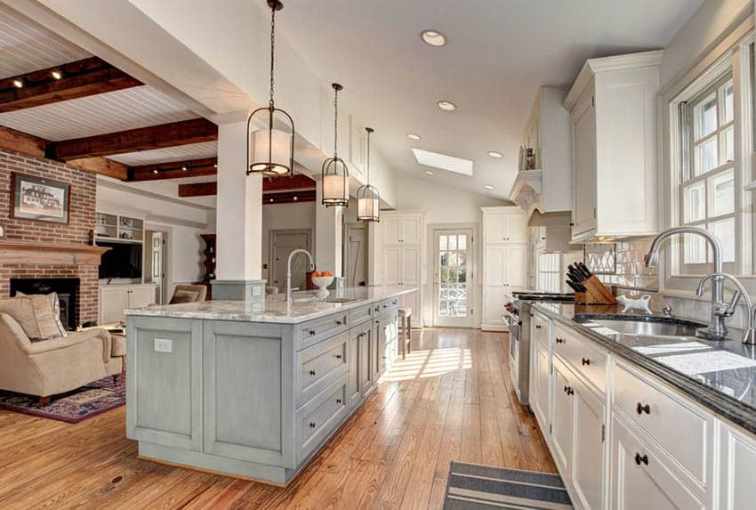
[[[736,116],[731,74],[692,101],[680,103],[680,224],[712,231],[721,241],[732,271],[740,231],[740,180],[736,174]],[[710,270],[711,248],[700,236],[685,236],[680,273]]]

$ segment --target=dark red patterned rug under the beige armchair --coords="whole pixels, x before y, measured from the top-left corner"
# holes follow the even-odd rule
[[[0,409],[76,424],[126,403],[125,373],[117,379],[114,384],[113,377],[107,376],[72,392],[55,395],[44,408],[39,407],[39,397],[0,391]]]

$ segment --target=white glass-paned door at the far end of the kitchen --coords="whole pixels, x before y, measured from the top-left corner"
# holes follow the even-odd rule
[[[433,232],[433,325],[472,326],[472,230]]]

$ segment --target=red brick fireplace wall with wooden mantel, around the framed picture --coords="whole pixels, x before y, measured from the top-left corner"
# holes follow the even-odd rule
[[[68,182],[70,221],[46,223],[11,218],[12,172]],[[0,298],[11,295],[11,279],[78,279],[76,323],[97,320],[98,264],[101,250],[91,246],[96,178],[62,163],[0,150]]]

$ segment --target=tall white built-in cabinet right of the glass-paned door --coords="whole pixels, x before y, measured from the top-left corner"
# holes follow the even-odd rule
[[[504,304],[513,290],[527,287],[527,228],[517,206],[482,207],[483,320],[482,328],[503,330]]]

